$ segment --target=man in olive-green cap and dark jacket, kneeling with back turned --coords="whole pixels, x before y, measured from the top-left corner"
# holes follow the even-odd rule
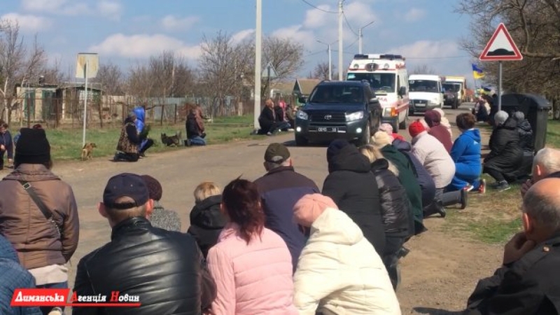
[[[305,246],[305,235],[293,221],[293,206],[307,194],[319,193],[319,188],[307,177],[296,173],[290,151],[283,144],[270,144],[265,151],[267,174],[255,181],[265,211],[265,227],[280,235],[288,245],[295,271],[297,258]]]

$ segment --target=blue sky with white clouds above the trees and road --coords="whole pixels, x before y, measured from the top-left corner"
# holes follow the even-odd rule
[[[407,68],[426,64],[440,75],[472,79],[470,58],[458,41],[468,35],[470,17],[454,13],[459,0],[345,0],[344,67],[358,52],[399,53]],[[97,52],[99,62],[126,69],[173,50],[196,64],[202,36],[225,31],[233,41],[255,36],[255,0],[1,0],[0,18],[18,20],[26,39],[35,34],[50,62],[71,69],[78,52]],[[307,2],[307,3],[306,3]],[[310,4],[309,4],[310,3]],[[327,45],[337,41],[337,0],[262,0],[263,34],[302,43],[307,76],[327,62]],[[327,11],[327,12],[325,12]],[[338,43],[332,63],[338,64]],[[263,62],[263,66],[265,66]]]

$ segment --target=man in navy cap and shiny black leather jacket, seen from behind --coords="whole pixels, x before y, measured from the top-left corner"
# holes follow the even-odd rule
[[[73,294],[81,302],[123,302],[139,307],[111,307],[111,314],[201,314],[216,296],[214,280],[195,239],[181,232],[153,228],[146,216],[153,202],[141,176],[111,177],[99,203],[113,232],[111,241],[78,263]],[[99,299],[101,299],[99,301]],[[92,302],[92,301],[89,301]],[[107,314],[106,307],[73,306],[73,314]]]

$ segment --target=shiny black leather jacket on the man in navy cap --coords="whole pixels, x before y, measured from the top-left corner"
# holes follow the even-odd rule
[[[201,314],[205,268],[190,235],[153,228],[146,218],[127,219],[113,227],[111,242],[80,260],[73,292],[106,295],[110,302],[119,291],[138,295],[141,306],[73,307],[72,314]]]

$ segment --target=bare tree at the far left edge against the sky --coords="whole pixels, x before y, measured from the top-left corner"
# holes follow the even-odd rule
[[[46,54],[35,36],[27,47],[20,36],[18,22],[0,21],[0,96],[1,117],[10,122],[11,113],[18,109],[15,102],[15,85],[38,80],[46,62]]]

